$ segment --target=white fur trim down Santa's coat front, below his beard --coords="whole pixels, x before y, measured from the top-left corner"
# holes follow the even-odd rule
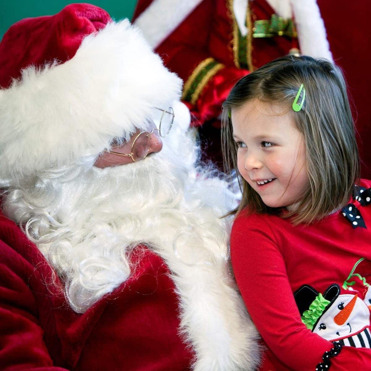
[[[256,370],[259,336],[239,294],[223,279],[222,269],[184,266],[172,251],[165,259],[180,295],[183,333],[196,352],[193,370]],[[226,255],[224,259],[225,266]]]

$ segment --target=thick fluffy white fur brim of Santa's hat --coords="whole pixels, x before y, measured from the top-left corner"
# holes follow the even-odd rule
[[[67,62],[30,66],[0,92],[1,177],[95,156],[112,137],[146,128],[154,107],[180,94],[181,79],[135,27],[109,23]]]

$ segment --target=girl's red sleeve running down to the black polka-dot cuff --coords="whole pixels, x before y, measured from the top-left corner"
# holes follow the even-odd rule
[[[267,346],[286,367],[314,371],[334,345],[302,323],[280,246],[262,217],[236,219],[231,259],[246,308]],[[336,371],[371,370],[370,349],[345,346],[331,358],[331,366]]]

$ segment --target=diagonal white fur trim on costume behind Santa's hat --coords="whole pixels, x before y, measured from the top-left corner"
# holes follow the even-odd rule
[[[153,49],[156,49],[202,0],[153,0],[135,20]]]

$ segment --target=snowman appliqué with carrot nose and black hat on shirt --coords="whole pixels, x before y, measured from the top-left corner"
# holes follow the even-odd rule
[[[323,295],[313,287],[303,285],[295,291],[294,297],[302,322],[312,332],[341,345],[371,348],[371,286],[361,275],[354,273],[362,260],[355,264],[343,288],[348,289],[355,283],[350,279],[360,279],[365,287],[363,299],[357,292],[340,295],[340,286],[336,283],[330,285]]]

